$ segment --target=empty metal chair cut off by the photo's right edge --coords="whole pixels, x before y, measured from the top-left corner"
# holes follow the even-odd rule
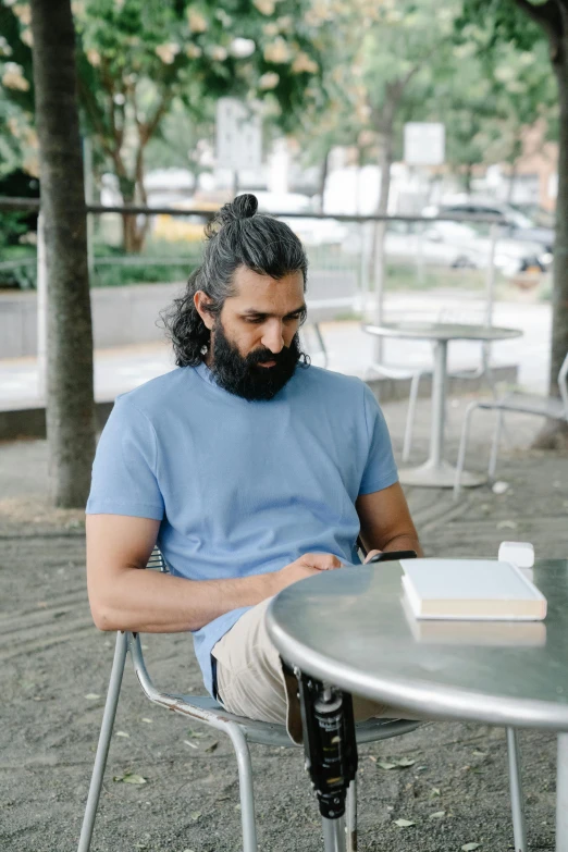
[[[491,446],[490,461],[489,461],[489,480],[490,482],[495,477],[495,469],[497,467],[497,455],[499,448],[499,437],[503,428],[503,419],[506,411],[516,411],[522,415],[536,415],[538,417],[545,417],[552,420],[564,420],[568,423],[568,354],[563,361],[560,370],[558,372],[558,388],[560,391],[560,397],[550,396],[532,396],[524,393],[507,394],[501,399],[476,399],[470,403],[466,409],[464,417],[464,425],[461,428],[461,439],[459,442],[458,460],[456,466],[456,480],[454,483],[454,498],[457,499],[461,489],[461,473],[466,461],[467,442],[469,436],[469,428],[473,411],[478,408],[497,411],[497,420],[495,423],[495,431],[493,433],[493,442]]]

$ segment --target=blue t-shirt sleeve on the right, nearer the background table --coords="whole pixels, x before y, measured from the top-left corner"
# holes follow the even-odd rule
[[[398,471],[383,412],[368,385],[363,385],[363,407],[369,450],[359,494],[372,494],[398,482]]]

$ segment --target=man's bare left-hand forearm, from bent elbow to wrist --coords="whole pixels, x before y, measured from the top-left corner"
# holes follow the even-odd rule
[[[229,580],[186,580],[158,571],[127,568],[120,572],[103,600],[92,600],[100,630],[178,633],[199,630],[213,619],[254,606],[276,593],[274,573]]]

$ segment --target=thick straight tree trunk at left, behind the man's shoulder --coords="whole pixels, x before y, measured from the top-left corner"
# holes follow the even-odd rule
[[[70,0],[32,0],[48,270],[47,434],[55,506],[85,506],[95,454],[92,328]]]

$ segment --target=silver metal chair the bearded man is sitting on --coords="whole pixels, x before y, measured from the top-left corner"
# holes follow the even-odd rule
[[[157,547],[155,547],[150,560],[148,561],[148,568],[159,568],[161,571],[168,571],[162,554]],[[248,743],[254,742],[261,745],[285,748],[298,746],[296,746],[288,737],[284,725],[254,721],[252,719],[247,719],[243,716],[235,716],[224,711],[223,707],[209,695],[182,695],[177,693],[161,692],[153,686],[146,668],[139,633],[122,631],[116,634],[109,691],[104,704],[99,743],[95,756],[95,767],[92,769],[77,852],[88,852],[90,849],[92,829],[102,787],[102,777],[107,765],[107,756],[109,753],[127,652],[131,654],[134,670],[143,692],[149,701],[165,707],[166,709],[174,711],[174,713],[178,713],[182,716],[189,717],[196,721],[202,721],[205,725],[217,728],[217,730],[220,730],[230,737],[233,748],[235,749],[238,767],[243,852],[257,852],[258,844],[255,822],[252,767]],[[357,742],[361,744],[366,742],[376,742],[378,740],[386,740],[391,737],[398,737],[415,730],[419,725],[420,723],[418,721],[409,721],[406,719],[369,719],[368,721],[357,724]],[[347,852],[355,852],[357,849],[356,826],[357,788],[356,781],[354,780],[347,794],[345,816]]]

